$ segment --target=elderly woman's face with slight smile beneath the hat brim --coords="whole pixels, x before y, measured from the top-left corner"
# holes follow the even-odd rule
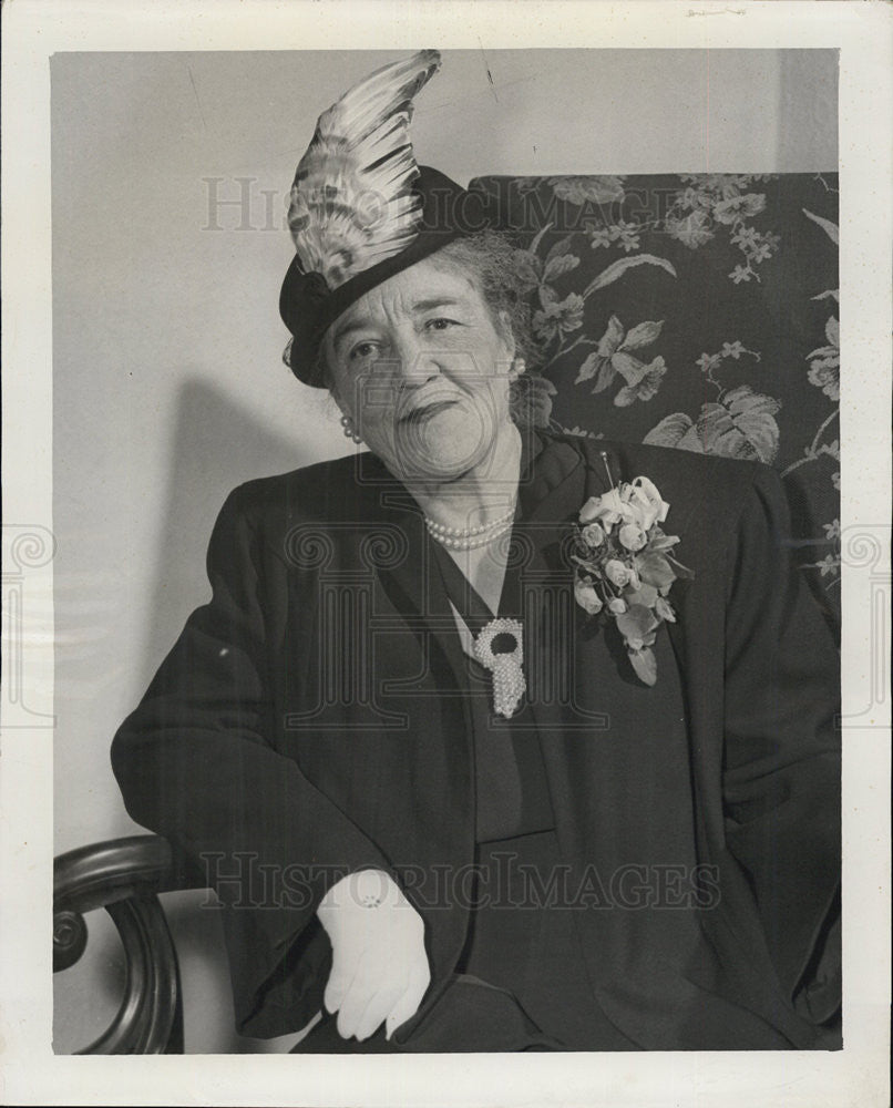
[[[514,341],[472,281],[425,258],[367,293],[329,327],[332,392],[402,480],[454,480],[509,422]]]

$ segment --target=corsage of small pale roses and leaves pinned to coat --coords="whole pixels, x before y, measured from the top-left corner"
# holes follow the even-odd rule
[[[664,620],[676,623],[667,599],[679,577],[694,574],[669,551],[678,535],[660,524],[669,504],[648,478],[620,482],[601,496],[591,496],[575,524],[574,596],[591,616],[613,619],[626,652],[646,685],[657,680],[651,647]]]

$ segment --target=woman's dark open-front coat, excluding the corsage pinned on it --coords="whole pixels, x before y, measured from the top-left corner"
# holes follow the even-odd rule
[[[542,742],[582,972],[643,1048],[838,1045],[821,1024],[840,988],[839,657],[791,562],[781,482],[756,462],[544,441],[522,490],[520,721]],[[651,688],[573,599],[564,540],[609,488],[602,451],[615,483],[655,482],[695,575],[673,586]],[[424,917],[432,971],[397,1039],[453,1048],[425,1027],[468,929],[444,889],[474,856],[474,772],[429,544],[370,455],[236,489],[208,550],[213,598],[115,737],[127,810],[217,891],[246,1034],[319,1009],[316,905],[376,866]]]

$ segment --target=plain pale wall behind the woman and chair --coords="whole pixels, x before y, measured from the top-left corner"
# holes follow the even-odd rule
[[[225,494],[343,452],[337,419],[281,365],[275,223],[319,112],[394,57],[57,54],[53,102],[57,849],[131,833],[109,766],[185,616]],[[487,76],[490,71],[491,80]],[[481,173],[805,172],[836,167],[832,51],[455,51],[420,95],[417,156]],[[208,186],[240,213],[209,220]],[[206,229],[216,222],[223,229]],[[204,228],[204,229],[203,229]],[[172,907],[187,1049],[232,1035],[218,922]],[[114,1010],[101,917],[57,983],[60,1051]],[[283,1048],[284,1044],[273,1044]]]

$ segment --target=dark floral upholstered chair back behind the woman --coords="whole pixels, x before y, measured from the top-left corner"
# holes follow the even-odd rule
[[[479,177],[531,296],[534,421],[757,459],[840,634],[834,174]]]

